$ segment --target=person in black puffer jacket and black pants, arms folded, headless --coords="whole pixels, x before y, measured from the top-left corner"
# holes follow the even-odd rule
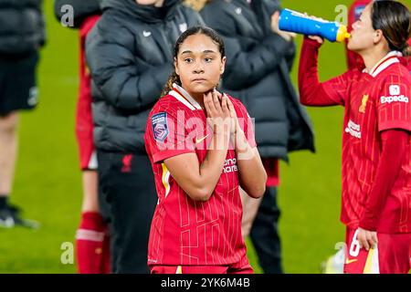
[[[103,0],[86,42],[99,196],[110,224],[113,273],[149,273],[157,203],[144,149],[148,113],[173,71],[173,44],[201,17],[178,0]]]

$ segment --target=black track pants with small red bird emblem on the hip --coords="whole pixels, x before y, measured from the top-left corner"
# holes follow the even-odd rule
[[[147,248],[157,203],[147,155],[98,151],[99,200],[111,232],[113,273],[149,273]]]

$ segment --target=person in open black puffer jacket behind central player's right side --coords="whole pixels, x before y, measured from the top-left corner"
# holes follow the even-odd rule
[[[205,24],[216,29],[226,43],[222,88],[241,99],[255,119],[258,151],[269,179],[259,206],[256,200],[244,202],[247,222],[243,235],[250,229],[259,265],[272,274],[283,272],[277,203],[279,160],[288,162],[290,151],[314,151],[311,121],[290,80],[295,35],[279,31],[278,10],[279,1],[274,0],[213,0],[200,11]]]

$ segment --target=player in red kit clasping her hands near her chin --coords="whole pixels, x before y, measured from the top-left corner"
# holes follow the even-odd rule
[[[247,110],[216,90],[225,64],[214,30],[186,30],[174,47],[174,74],[149,115],[144,138],[159,198],[149,241],[153,274],[253,272],[238,187],[258,198],[267,174]]]

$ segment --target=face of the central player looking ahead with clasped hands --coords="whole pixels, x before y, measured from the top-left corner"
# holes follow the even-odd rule
[[[188,36],[174,62],[183,88],[191,96],[201,98],[216,87],[225,65],[226,57],[221,57],[218,45],[203,34]]]

